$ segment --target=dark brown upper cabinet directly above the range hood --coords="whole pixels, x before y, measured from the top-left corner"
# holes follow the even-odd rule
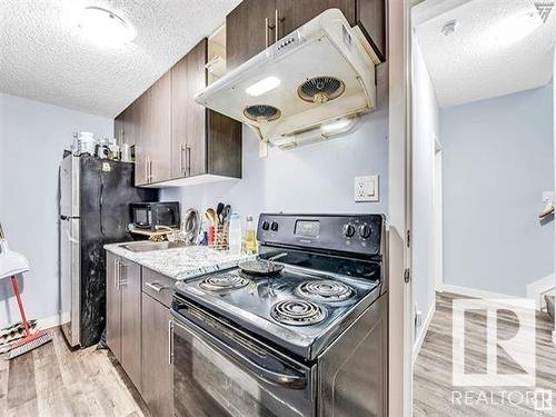
[[[226,67],[231,70],[331,8],[357,26],[386,60],[386,0],[244,0],[226,17]]]

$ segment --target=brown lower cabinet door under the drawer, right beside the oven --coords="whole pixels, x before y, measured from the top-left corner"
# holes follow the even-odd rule
[[[173,414],[170,310],[142,294],[142,398],[157,417]]]

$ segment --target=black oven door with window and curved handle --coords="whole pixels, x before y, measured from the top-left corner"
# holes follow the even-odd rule
[[[249,347],[237,335],[230,346],[172,315],[176,416],[315,416],[311,368]]]

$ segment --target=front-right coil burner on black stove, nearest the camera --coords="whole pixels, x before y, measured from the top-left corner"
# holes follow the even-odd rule
[[[322,321],[326,310],[311,301],[289,299],[276,302],[270,316],[284,325],[310,326]]]

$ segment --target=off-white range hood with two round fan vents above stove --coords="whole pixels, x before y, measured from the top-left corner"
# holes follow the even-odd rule
[[[374,110],[374,60],[363,34],[340,10],[329,9],[208,86],[195,100],[275,142]]]

